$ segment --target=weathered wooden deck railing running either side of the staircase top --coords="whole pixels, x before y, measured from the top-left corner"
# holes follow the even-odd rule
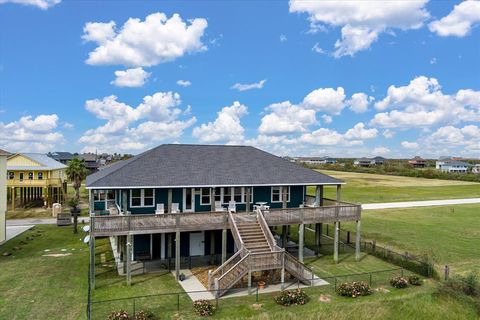
[[[263,214],[269,226],[360,220],[359,204],[346,202],[340,202],[338,205],[331,202],[325,204],[328,205],[271,209],[264,211]],[[230,229],[226,212],[91,216],[91,232],[94,237],[220,229]]]

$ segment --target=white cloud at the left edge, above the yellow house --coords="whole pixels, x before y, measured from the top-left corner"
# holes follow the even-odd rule
[[[10,152],[48,152],[64,141],[56,131],[56,114],[24,116],[18,121],[0,122],[0,146]]]

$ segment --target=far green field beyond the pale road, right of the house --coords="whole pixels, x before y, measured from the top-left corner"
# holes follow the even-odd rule
[[[480,197],[480,183],[410,178],[369,173],[319,170],[342,179],[342,199],[358,203]],[[308,190],[314,194],[313,188]],[[335,188],[325,187],[325,196],[335,198]]]

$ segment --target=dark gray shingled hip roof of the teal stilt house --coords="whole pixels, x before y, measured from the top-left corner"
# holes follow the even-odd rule
[[[87,177],[87,188],[342,183],[254,147],[182,144],[158,146]]]

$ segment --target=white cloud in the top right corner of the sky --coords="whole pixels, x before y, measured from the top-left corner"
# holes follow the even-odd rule
[[[467,0],[457,4],[440,20],[431,22],[430,31],[441,37],[464,37],[480,22],[480,1]]]

